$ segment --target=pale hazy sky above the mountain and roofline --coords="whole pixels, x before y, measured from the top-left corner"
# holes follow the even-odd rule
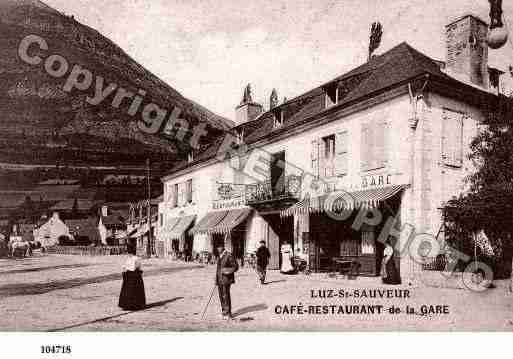
[[[273,88],[291,99],[364,63],[374,21],[384,32],[376,53],[406,41],[440,60],[450,20],[472,13],[489,22],[488,0],[43,1],[230,119],[248,83],[268,106]],[[503,9],[513,26],[513,2]],[[513,64],[513,38],[491,50],[489,62],[503,70]]]

